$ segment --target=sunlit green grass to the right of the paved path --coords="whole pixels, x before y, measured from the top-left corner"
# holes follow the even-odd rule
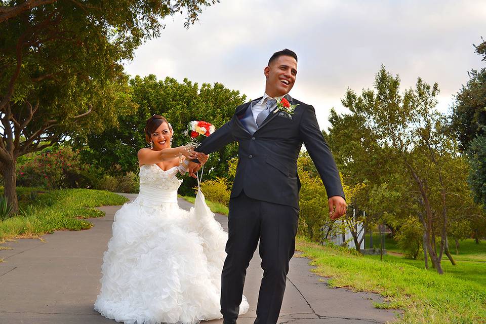
[[[486,263],[444,259],[444,274],[424,269],[423,260],[387,255],[362,256],[339,247],[323,247],[297,239],[297,250],[312,259],[313,270],[332,277],[333,287],[376,292],[385,297],[379,308],[399,308],[399,323],[448,324],[486,322]],[[467,248],[466,248],[467,250]],[[486,254],[484,254],[486,257]]]

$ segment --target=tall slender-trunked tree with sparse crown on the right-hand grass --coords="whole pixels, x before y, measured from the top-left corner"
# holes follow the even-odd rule
[[[435,109],[437,84],[430,86],[418,78],[414,89],[399,92],[400,79],[392,76],[384,67],[377,73],[374,90],[363,90],[357,96],[348,90],[343,105],[359,120],[358,133],[370,134],[393,161],[387,165],[406,175],[411,182],[409,195],[418,207],[417,215],[424,228],[425,250],[438,273],[442,273],[440,258],[448,252],[448,203],[454,199],[448,190],[452,185],[451,161],[458,155],[457,144],[445,131],[444,118]],[[369,149],[362,145],[363,152]],[[373,160],[369,153],[368,160]],[[371,157],[370,157],[371,156]],[[386,172],[371,165],[378,172]],[[357,167],[354,167],[357,168]],[[376,172],[376,171],[375,171]],[[372,174],[372,173],[371,173]],[[386,178],[386,176],[384,176]],[[462,203],[462,202],[461,202]],[[413,206],[413,204],[411,204]],[[435,249],[435,232],[441,235],[441,250]]]

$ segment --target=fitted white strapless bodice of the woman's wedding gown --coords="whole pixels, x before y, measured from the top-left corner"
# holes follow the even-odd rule
[[[176,173],[177,167],[164,171],[155,164],[141,166],[138,197],[150,205],[177,203],[177,189],[182,180],[177,179]]]

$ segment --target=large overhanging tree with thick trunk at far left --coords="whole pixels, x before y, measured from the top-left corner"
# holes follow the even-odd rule
[[[28,152],[116,123],[133,108],[122,60],[155,37],[161,18],[185,25],[215,1],[2,1],[0,169],[17,211],[15,166]]]

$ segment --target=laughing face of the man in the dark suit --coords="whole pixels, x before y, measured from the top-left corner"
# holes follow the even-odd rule
[[[294,87],[297,61],[292,56],[279,56],[265,67],[264,73],[265,93],[272,98],[284,96]]]

